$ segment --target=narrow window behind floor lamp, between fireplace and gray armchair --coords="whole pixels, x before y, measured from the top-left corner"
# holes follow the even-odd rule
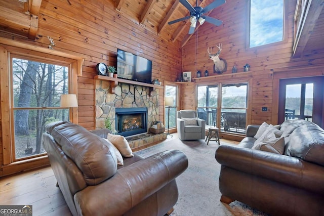
[[[169,119],[169,106],[165,106],[165,126],[166,128],[173,128],[177,126],[177,99],[178,87],[176,85],[165,86],[165,97],[173,97],[173,106],[170,106],[170,119]],[[169,121],[170,120],[170,121]],[[169,125],[168,125],[169,124]]]

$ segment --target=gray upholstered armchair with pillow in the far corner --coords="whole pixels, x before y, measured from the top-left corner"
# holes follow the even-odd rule
[[[205,120],[199,119],[195,110],[177,112],[177,128],[180,140],[205,139]]]

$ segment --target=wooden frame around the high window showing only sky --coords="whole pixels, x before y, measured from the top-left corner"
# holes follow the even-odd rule
[[[260,49],[269,49],[272,46],[280,46],[282,44],[286,44],[288,42],[288,4],[289,1],[283,0],[284,1],[284,29],[283,29],[283,37],[281,41],[277,42],[272,42],[271,44],[266,44],[266,45],[260,45],[256,47],[250,47],[250,5],[251,1],[247,0],[247,31],[246,31],[246,50],[251,50],[251,51],[256,51]]]

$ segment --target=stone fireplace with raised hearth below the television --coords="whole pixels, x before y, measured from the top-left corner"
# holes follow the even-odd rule
[[[118,133],[127,137],[126,139],[133,151],[155,145],[167,139],[167,133],[148,133],[152,122],[163,120],[163,115],[159,115],[158,88],[151,92],[148,87],[142,85],[118,82],[118,85],[114,88],[114,93],[111,93],[110,81],[96,79],[95,85],[96,128],[104,128],[104,122],[107,118],[111,121],[112,131],[117,130],[118,126],[121,125]],[[128,116],[124,116],[124,119],[118,118],[119,114],[125,114],[123,113],[124,110],[132,110],[131,112],[136,111],[137,113],[127,114]],[[146,114],[143,115],[143,112],[146,112]],[[132,127],[133,129],[130,129]],[[141,135],[131,136],[129,132],[132,131],[133,133],[133,130],[136,133],[141,133]]]

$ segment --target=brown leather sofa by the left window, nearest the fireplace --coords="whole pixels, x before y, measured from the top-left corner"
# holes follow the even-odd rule
[[[124,158],[117,167],[108,129],[88,131],[71,122],[46,126],[43,145],[73,215],[165,215],[178,200],[175,178],[187,157],[168,150]]]

